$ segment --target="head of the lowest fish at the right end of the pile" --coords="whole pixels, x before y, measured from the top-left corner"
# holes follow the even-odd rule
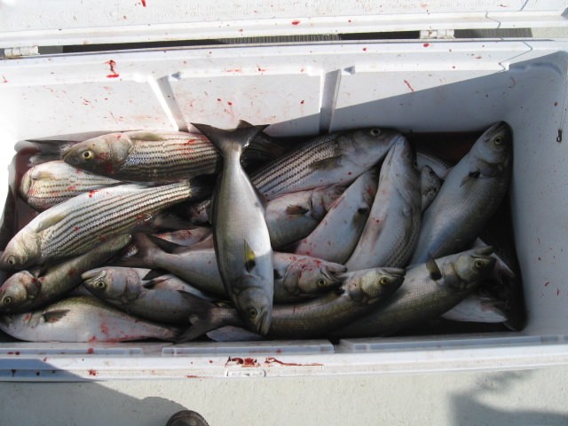
[[[462,253],[454,261],[454,272],[459,280],[451,282],[451,287],[466,290],[477,285],[479,280],[485,279],[493,270],[495,258],[493,247],[473,248]]]

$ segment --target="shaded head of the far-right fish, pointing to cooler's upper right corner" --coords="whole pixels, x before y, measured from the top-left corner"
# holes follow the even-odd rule
[[[477,139],[471,151],[488,164],[509,165],[512,152],[512,131],[506,122],[496,122]]]

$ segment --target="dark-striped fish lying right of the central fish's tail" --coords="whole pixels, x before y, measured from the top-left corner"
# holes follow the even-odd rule
[[[250,180],[267,200],[316,186],[348,185],[380,162],[401,136],[393,130],[374,128],[314,138],[269,162],[253,173]]]

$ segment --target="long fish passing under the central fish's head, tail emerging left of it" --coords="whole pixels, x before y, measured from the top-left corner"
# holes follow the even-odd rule
[[[302,304],[276,304],[272,312],[270,337],[306,338],[326,336],[336,327],[349,323],[388,300],[405,279],[405,270],[376,268],[342,275],[336,292]],[[225,326],[242,327],[234,309],[218,307],[206,317],[193,319],[180,341],[194,338]]]

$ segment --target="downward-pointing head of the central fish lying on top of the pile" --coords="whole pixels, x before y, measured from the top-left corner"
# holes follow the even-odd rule
[[[253,331],[266,335],[272,319],[272,297],[260,285],[259,277],[247,274],[241,277],[233,287],[235,305],[241,317]]]

